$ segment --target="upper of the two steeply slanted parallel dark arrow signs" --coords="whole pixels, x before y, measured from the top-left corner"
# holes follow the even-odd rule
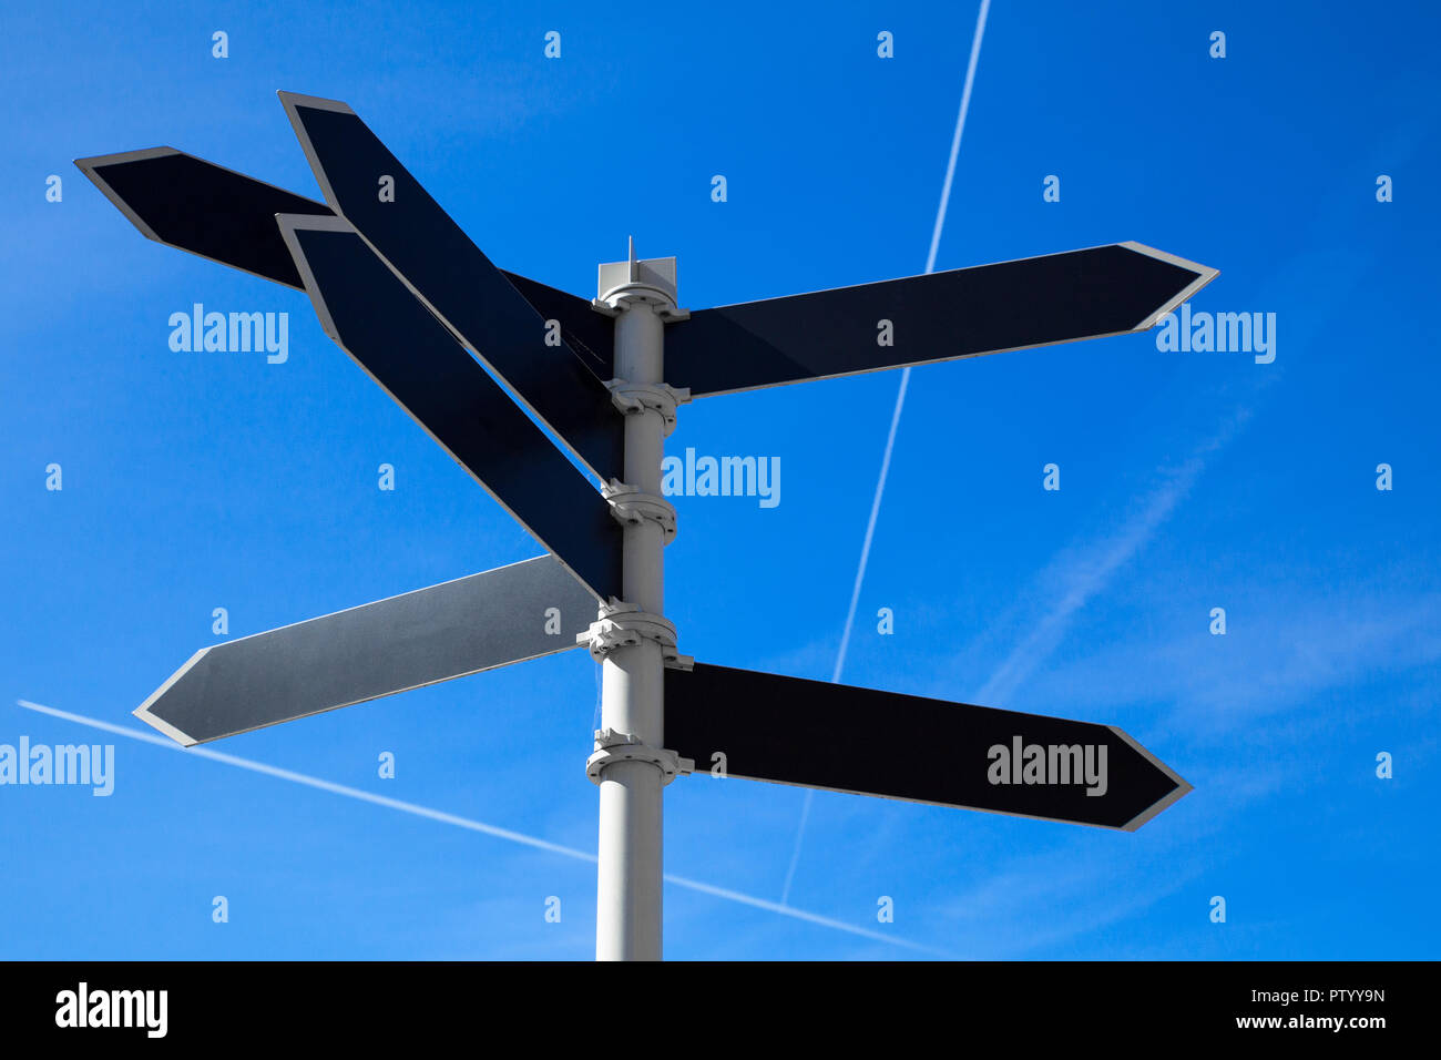
[[[562,345],[546,345],[546,317],[346,104],[280,95],[326,202],[597,476],[621,479],[623,420],[594,353],[565,343],[563,329]],[[382,177],[393,180],[393,200]]]

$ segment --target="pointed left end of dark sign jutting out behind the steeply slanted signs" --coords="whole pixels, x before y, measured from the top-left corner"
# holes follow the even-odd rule
[[[267,185],[174,147],[76,159],[147,239],[265,280],[300,287],[277,213],[331,216],[324,203]]]

